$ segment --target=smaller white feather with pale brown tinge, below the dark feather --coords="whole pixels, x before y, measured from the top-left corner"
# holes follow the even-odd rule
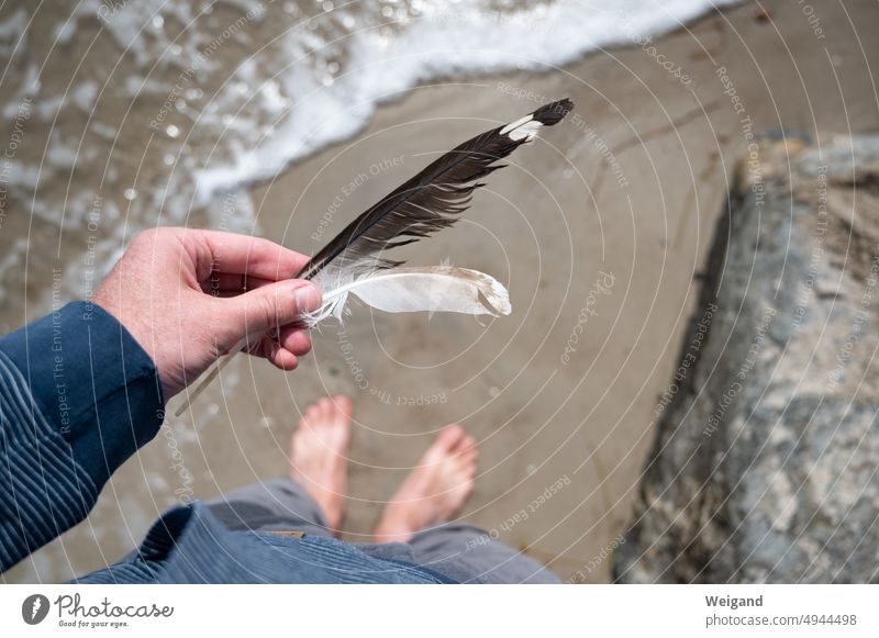
[[[480,315],[510,314],[510,295],[503,284],[478,270],[453,266],[378,270],[324,292],[323,305],[302,317],[309,327],[324,318],[342,316],[348,294],[385,312],[459,312]]]

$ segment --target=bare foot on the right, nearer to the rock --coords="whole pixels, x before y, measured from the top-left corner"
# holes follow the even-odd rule
[[[376,527],[377,542],[405,542],[460,510],[474,489],[476,440],[447,425],[391,497]]]

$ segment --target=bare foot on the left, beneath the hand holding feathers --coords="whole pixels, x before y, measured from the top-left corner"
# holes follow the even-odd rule
[[[290,478],[318,502],[337,536],[345,513],[351,399],[321,399],[305,410],[290,441]]]

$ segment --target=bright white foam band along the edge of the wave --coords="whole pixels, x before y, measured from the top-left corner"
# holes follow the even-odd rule
[[[302,65],[281,75],[278,80],[291,99],[305,98],[277,123],[270,138],[232,163],[205,168],[196,184],[196,203],[207,205],[218,192],[270,178],[288,164],[352,136],[378,104],[419,82],[463,74],[547,70],[598,47],[676,29],[712,7],[731,3],[563,0],[504,18],[488,12],[481,2],[412,2],[420,9],[418,16],[393,35],[361,29],[346,40],[349,66],[330,86]],[[326,46],[301,30],[288,40],[289,61],[309,46],[318,49],[315,56]],[[258,76],[247,81],[258,89]]]

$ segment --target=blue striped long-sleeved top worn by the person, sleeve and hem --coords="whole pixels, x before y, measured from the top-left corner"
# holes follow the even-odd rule
[[[98,306],[68,304],[0,339],[0,572],[82,521],[164,416],[153,361]],[[231,531],[196,502],[167,512],[134,556],[76,582],[449,582],[368,551]]]

